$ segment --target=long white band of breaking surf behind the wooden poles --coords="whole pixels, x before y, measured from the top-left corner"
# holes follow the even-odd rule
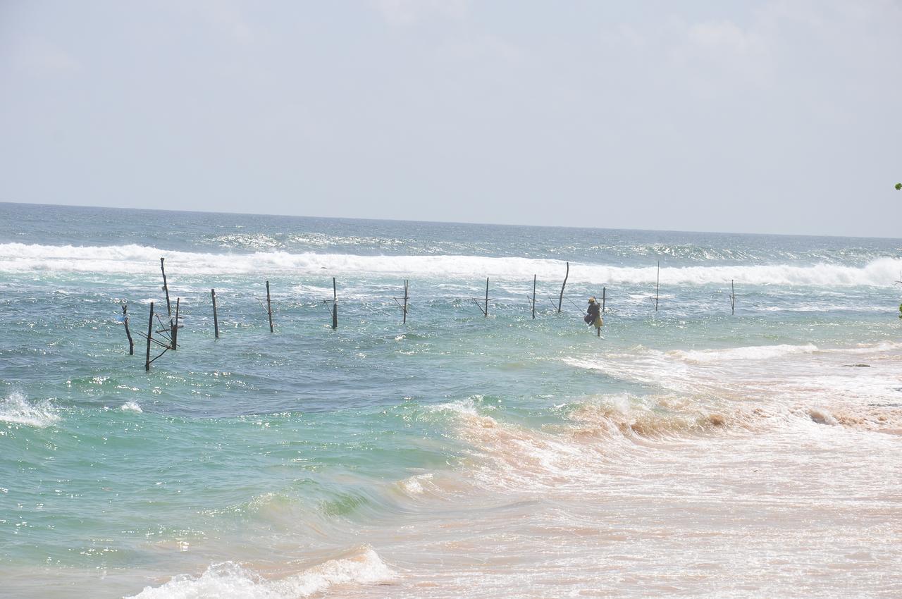
[[[372,256],[345,253],[195,253],[170,252],[143,245],[72,246],[0,244],[0,272],[107,272],[156,274],[160,256],[184,274],[245,274],[253,272],[313,274],[376,272],[421,276],[494,276],[557,280],[564,270],[559,260],[469,255]],[[879,258],[863,267],[818,263],[746,266],[666,267],[662,284],[701,285],[735,280],[742,284],[890,285],[902,270],[902,260]],[[571,263],[570,281],[587,283],[651,283],[654,266],[630,268]]]

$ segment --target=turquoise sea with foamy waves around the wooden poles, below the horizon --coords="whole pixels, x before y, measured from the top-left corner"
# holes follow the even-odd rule
[[[0,595],[900,596],[900,251],[0,204]]]

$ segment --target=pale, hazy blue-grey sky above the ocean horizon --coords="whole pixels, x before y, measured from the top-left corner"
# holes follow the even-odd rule
[[[902,237],[902,0],[0,2],[0,201]]]

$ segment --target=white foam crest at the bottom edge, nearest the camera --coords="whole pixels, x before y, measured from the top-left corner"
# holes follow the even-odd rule
[[[207,567],[200,576],[175,576],[168,583],[134,595],[141,599],[294,599],[322,593],[332,585],[373,584],[396,575],[372,548],[348,558],[330,559],[299,574],[268,580],[235,562]]]

